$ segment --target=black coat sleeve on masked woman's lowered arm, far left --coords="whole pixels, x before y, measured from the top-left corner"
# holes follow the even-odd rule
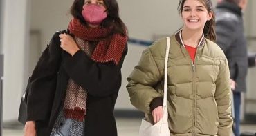
[[[62,49],[60,32],[56,32],[42,53],[30,77],[28,86],[27,120],[44,120],[51,113],[60,68]]]

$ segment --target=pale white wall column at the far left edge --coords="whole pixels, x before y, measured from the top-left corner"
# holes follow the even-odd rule
[[[17,119],[24,89],[28,7],[26,0],[5,0],[3,4],[3,121],[8,121]]]

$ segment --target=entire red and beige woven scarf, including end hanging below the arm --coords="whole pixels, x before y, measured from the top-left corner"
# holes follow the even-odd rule
[[[113,34],[111,28],[90,28],[84,26],[78,19],[72,19],[68,30],[78,48],[96,62],[113,62],[118,65],[127,43],[127,36]],[[91,45],[95,43],[95,46]],[[86,115],[87,92],[73,81],[68,80],[64,101],[64,116],[66,118],[84,121]]]

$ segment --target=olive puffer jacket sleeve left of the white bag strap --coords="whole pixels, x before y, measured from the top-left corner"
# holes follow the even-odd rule
[[[154,86],[162,79],[149,48],[143,51],[138,65],[127,78],[127,90],[131,104],[144,113],[150,113],[150,104],[156,97],[161,97]]]

